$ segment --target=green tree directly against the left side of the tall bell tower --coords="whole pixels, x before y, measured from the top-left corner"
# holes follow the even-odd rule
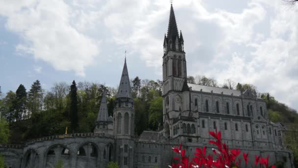
[[[162,124],[162,97],[157,97],[149,102],[149,128],[158,129],[158,123]]]

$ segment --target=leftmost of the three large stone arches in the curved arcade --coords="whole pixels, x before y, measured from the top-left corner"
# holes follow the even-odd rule
[[[29,148],[26,150],[23,157],[22,168],[38,168],[39,167],[39,154],[36,150]]]

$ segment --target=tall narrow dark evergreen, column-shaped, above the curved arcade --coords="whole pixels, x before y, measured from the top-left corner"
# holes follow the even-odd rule
[[[73,84],[71,85],[71,91],[70,91],[70,118],[71,118],[71,130],[73,132],[76,131],[78,127],[78,110],[77,110],[77,87],[75,84],[75,81],[73,81]]]

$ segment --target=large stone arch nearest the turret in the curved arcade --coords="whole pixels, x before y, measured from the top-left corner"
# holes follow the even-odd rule
[[[77,167],[79,168],[93,168],[97,167],[100,156],[99,146],[94,142],[83,142],[77,145],[76,151],[79,154],[80,149],[84,149],[85,155],[77,155]]]

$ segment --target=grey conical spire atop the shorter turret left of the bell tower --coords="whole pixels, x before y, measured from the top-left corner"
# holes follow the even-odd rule
[[[124,60],[124,67],[123,67],[122,76],[121,76],[118,94],[117,94],[117,98],[120,98],[120,97],[132,98],[130,81],[129,81],[129,77],[128,77],[128,70],[127,70],[127,66],[126,66],[126,57]]]

